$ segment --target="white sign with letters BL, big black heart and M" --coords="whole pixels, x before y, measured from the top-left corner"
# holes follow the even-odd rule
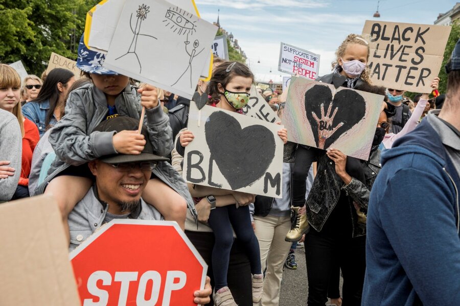
[[[211,106],[190,104],[183,177],[193,184],[280,198],[281,125]]]

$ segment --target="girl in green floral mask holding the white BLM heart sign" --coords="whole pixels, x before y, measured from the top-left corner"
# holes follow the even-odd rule
[[[213,71],[213,77],[208,85],[208,94],[220,96],[220,100],[214,101],[211,106],[242,113],[241,109],[247,105],[249,100],[252,82],[254,82],[254,75],[245,65],[238,62],[220,64]],[[219,124],[226,126],[226,122]],[[278,135],[284,143],[287,142],[286,129],[280,129]],[[187,146],[194,138],[191,131],[183,131],[179,136],[180,146],[182,148]],[[179,148],[178,151],[182,149]],[[209,213],[208,223],[215,235],[211,257],[215,283],[214,304],[217,306],[237,305],[235,300],[239,298],[235,295],[234,299],[227,284],[230,251],[234,240],[232,227],[249,258],[252,274],[252,302],[259,303],[263,293],[263,274],[259,243],[252,230],[247,206],[250,202],[254,202],[254,195],[248,198],[248,194],[245,193],[203,186],[194,186],[190,192],[192,196],[200,197],[196,199],[198,218],[203,219],[202,213],[204,213],[204,219],[206,219]],[[210,203],[209,209],[201,209],[200,203],[203,202],[203,198]]]

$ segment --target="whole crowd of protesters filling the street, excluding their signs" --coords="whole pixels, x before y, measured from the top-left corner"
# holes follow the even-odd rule
[[[460,40],[445,67],[447,92],[410,100],[372,85],[369,42],[350,34],[317,81],[383,96],[369,157],[289,143],[280,126],[280,199],[185,182],[185,147],[204,137],[187,130],[193,102],[108,70],[83,39],[79,54],[78,80],[61,68],[20,80],[0,64],[0,202],[54,196],[71,249],[81,224],[97,229],[91,210],[101,223],[173,220],[209,266],[196,303],[278,305],[283,266],[295,268],[293,248],[305,240],[299,305],[460,304]],[[242,114],[254,81],[244,64],[217,59],[196,91]],[[439,81],[430,80],[435,92]],[[289,101],[258,91],[281,118]]]

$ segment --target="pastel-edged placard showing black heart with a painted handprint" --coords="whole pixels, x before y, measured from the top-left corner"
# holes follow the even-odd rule
[[[289,141],[369,159],[382,95],[293,77],[286,101]]]

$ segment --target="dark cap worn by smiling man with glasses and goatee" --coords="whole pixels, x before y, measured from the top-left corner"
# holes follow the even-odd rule
[[[94,131],[99,132],[121,132],[121,131],[135,131],[139,127],[139,120],[127,116],[117,116],[110,118],[99,123]],[[142,163],[142,162],[160,162],[168,161],[169,159],[153,154],[153,146],[149,141],[149,134],[147,127],[143,126],[141,134],[144,135],[146,144],[144,150],[139,155],[131,154],[112,154],[103,156],[99,160],[108,164],[121,164],[121,163]]]

